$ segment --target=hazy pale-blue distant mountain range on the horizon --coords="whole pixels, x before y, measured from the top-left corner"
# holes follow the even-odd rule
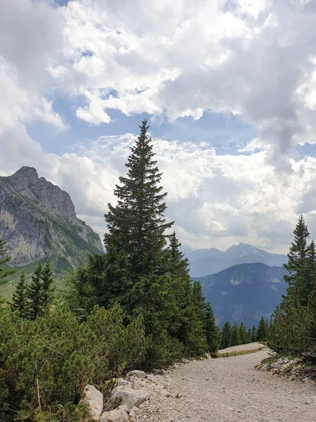
[[[199,249],[185,254],[190,262],[190,275],[192,277],[216,274],[218,271],[232,267],[237,264],[251,264],[262,262],[269,266],[281,267],[287,262],[286,255],[279,255],[265,252],[256,246],[232,245],[228,250],[222,252],[216,248]]]

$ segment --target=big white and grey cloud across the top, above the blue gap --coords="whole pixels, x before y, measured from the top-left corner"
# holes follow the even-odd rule
[[[111,109],[235,113],[280,172],[316,141],[314,1],[74,0],[59,15],[63,56],[50,74],[84,96],[76,115],[88,124],[109,123]]]

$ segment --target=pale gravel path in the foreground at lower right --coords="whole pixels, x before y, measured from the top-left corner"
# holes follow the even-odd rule
[[[170,373],[171,397],[152,397],[137,420],[315,422],[316,385],[256,371],[265,357],[261,351],[179,366]]]

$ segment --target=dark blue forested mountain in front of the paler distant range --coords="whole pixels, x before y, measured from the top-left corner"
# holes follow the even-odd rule
[[[211,302],[218,324],[244,322],[247,328],[258,325],[261,316],[269,319],[286,293],[284,267],[266,264],[238,264],[217,274],[197,277],[206,300]]]

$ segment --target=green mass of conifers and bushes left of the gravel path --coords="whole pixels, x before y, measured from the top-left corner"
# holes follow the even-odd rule
[[[77,421],[84,385],[105,394],[133,368],[168,366],[216,353],[220,330],[199,281],[192,283],[163,192],[147,120],[105,214],[105,255],[67,277],[54,297],[50,264],[22,274],[0,306],[0,418]],[[0,280],[10,258],[0,241]]]

